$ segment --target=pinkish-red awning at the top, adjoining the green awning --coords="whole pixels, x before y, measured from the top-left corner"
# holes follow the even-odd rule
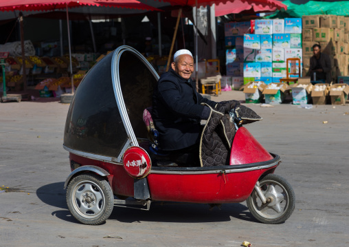
[[[284,8],[287,10],[287,6],[276,0],[234,0],[227,3],[218,3],[214,10],[216,17],[221,17],[225,14],[238,14],[245,10],[251,10],[252,12],[274,12]]]

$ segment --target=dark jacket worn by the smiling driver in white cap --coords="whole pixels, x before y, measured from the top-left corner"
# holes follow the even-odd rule
[[[201,103],[216,105],[196,92],[191,78],[186,80],[171,68],[161,75],[154,89],[152,114],[161,150],[184,149],[199,142],[204,110]]]

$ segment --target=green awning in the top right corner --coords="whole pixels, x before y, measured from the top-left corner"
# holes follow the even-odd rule
[[[276,11],[274,14],[263,17],[264,19],[275,18],[302,18],[304,15],[314,14],[335,14],[349,16],[349,1],[308,1],[305,4],[291,3],[290,0],[283,1],[287,6],[287,10],[284,9]]]

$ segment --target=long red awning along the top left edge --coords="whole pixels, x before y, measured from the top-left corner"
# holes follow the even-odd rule
[[[67,1],[50,1],[50,0],[8,0],[0,2],[0,11],[52,11],[79,6],[104,6],[117,8],[132,8],[138,10],[158,10],[137,0],[67,0]],[[158,10],[161,11],[161,10]]]

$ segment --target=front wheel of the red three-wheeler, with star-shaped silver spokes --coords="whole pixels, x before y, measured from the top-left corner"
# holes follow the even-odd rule
[[[268,174],[260,180],[260,189],[271,202],[262,204],[256,189],[247,198],[249,211],[265,224],[280,224],[289,219],[295,209],[295,193],[280,175]]]

